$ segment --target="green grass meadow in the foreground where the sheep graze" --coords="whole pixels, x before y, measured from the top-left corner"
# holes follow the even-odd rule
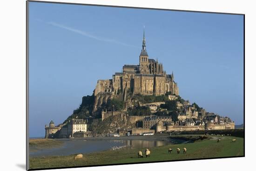
[[[194,143],[188,144],[150,148],[151,156],[149,158],[145,158],[145,149],[130,148],[83,154],[84,157],[78,160],[74,160],[75,155],[34,157],[30,158],[30,169],[243,156],[243,138],[221,137],[219,143],[216,142],[217,138],[219,137],[198,139]],[[233,138],[237,139],[236,143],[230,143]],[[183,149],[183,147],[187,148],[187,154],[175,153],[176,148]],[[168,153],[168,148],[173,149],[171,154]],[[144,158],[137,158],[138,150],[143,152]]]

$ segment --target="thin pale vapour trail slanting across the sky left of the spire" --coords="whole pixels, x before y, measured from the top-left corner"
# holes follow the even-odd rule
[[[61,24],[58,24],[58,23],[55,23],[55,22],[47,22],[47,24],[53,25],[53,26],[56,26],[56,27],[59,27],[59,28],[62,28],[62,29],[65,29],[65,30],[68,30],[68,31],[71,31],[71,32],[75,32],[75,33],[81,34],[83,36],[86,36],[88,38],[93,38],[95,40],[99,40],[99,41],[103,41],[103,42],[109,42],[109,43],[115,43],[115,44],[121,44],[121,45],[124,45],[124,46],[130,46],[130,47],[138,48],[137,46],[134,46],[134,45],[131,45],[131,44],[125,44],[125,43],[122,43],[122,42],[114,40],[114,39],[101,38],[101,37],[98,37],[98,36],[94,36],[93,34],[90,34],[88,32],[81,31],[81,30],[78,30],[78,29],[74,29],[74,28],[71,28],[71,27],[67,27],[65,25],[61,25]]]

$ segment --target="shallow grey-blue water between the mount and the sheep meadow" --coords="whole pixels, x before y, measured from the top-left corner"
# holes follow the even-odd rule
[[[128,148],[150,148],[166,146],[171,141],[162,140],[140,140],[140,139],[61,139],[64,145],[58,148],[30,150],[30,156],[66,156],[77,153],[101,152],[122,147]]]

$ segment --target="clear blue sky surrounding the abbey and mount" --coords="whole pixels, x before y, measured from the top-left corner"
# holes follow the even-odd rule
[[[29,2],[29,133],[44,136],[92,95],[98,79],[149,58],[180,95],[243,123],[243,16]]]

